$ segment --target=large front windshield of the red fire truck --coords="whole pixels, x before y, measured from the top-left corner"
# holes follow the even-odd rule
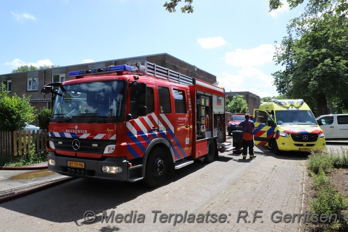
[[[124,81],[95,81],[58,89],[52,122],[119,122],[124,120]]]

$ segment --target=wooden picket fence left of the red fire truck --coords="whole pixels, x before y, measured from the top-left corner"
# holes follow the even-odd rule
[[[46,151],[47,130],[0,132],[0,155],[26,155],[33,148],[36,153]]]

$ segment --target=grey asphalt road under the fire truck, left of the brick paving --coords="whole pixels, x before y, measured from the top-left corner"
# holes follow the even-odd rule
[[[328,148],[348,149],[348,146],[328,143]],[[266,147],[255,147],[255,153],[261,158],[274,158]],[[261,158],[243,161],[239,155],[223,153],[213,163],[197,162],[177,170],[174,177],[155,189],[140,183],[75,179],[0,204],[0,228],[3,231],[185,231],[183,223],[173,225],[165,217],[185,212],[197,214],[207,209],[224,189],[243,178],[242,173],[262,165],[265,159]],[[286,165],[294,160],[303,166],[307,156],[287,154],[279,162]],[[95,220],[86,222],[93,214]],[[114,220],[123,217],[123,223],[106,223],[110,216]]]

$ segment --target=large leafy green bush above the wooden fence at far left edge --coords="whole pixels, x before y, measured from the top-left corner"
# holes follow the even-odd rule
[[[29,103],[30,97],[8,96],[6,86],[0,91],[0,131],[20,130],[26,122],[35,118],[35,109]]]

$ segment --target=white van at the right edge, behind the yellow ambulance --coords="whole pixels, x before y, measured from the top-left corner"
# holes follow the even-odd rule
[[[348,139],[348,114],[329,114],[317,117],[326,139]]]

